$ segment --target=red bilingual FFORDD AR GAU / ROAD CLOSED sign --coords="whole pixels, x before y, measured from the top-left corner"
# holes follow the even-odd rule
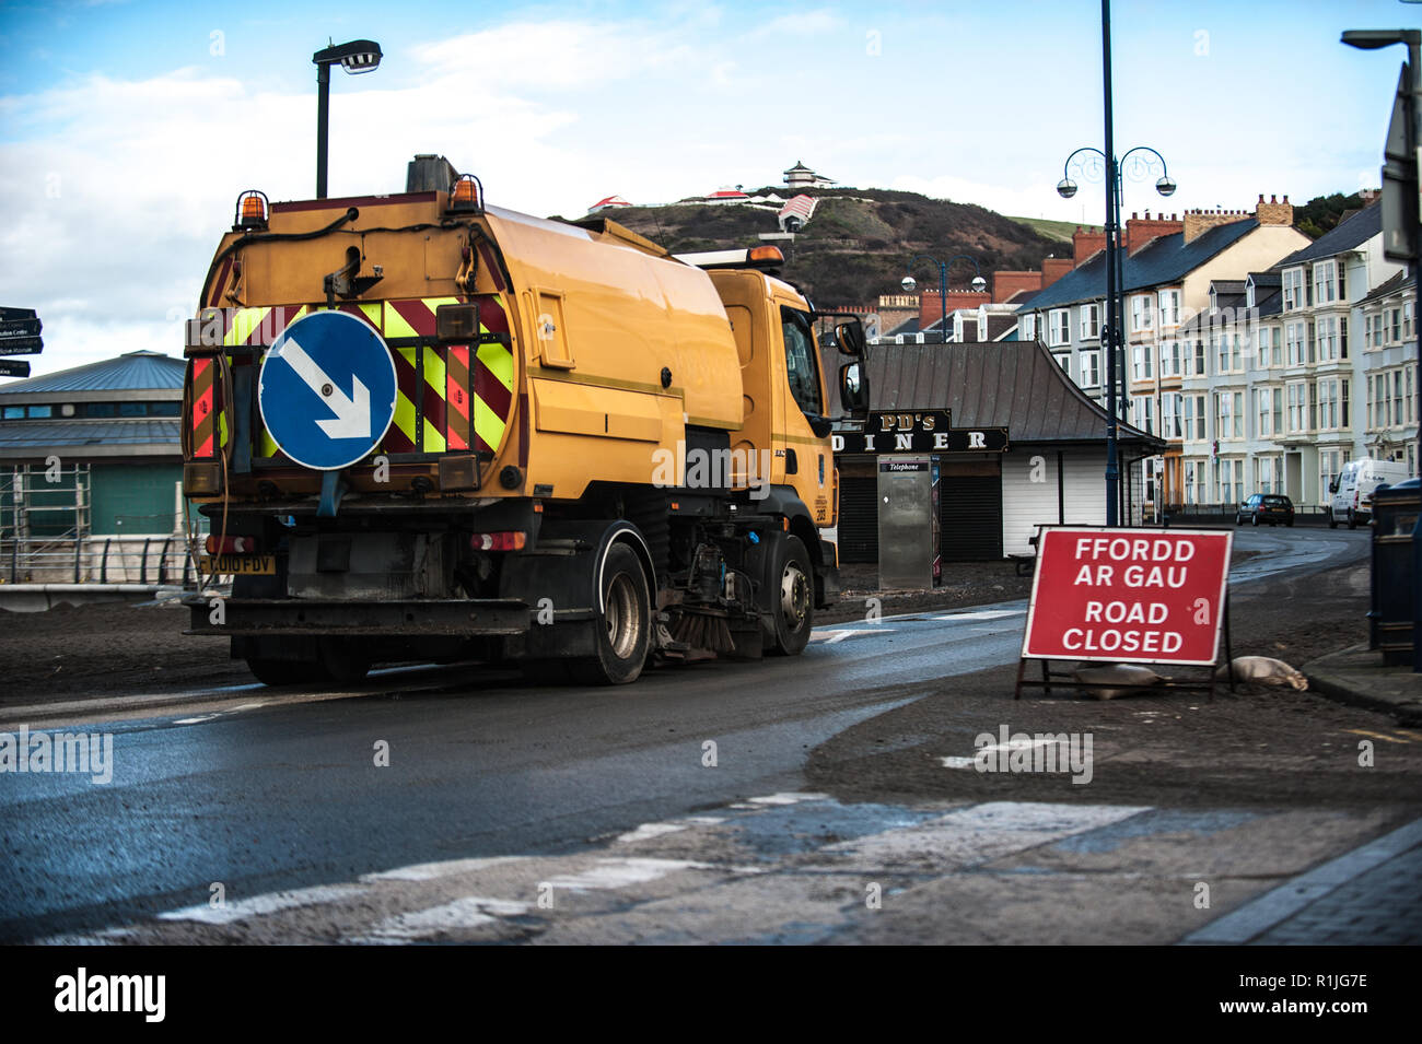
[[[1214,663],[1227,530],[1042,530],[1024,659]]]

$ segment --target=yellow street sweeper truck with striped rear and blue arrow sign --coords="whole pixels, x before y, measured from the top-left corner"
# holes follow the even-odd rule
[[[857,318],[776,247],[671,256],[600,217],[486,206],[417,156],[402,195],[237,200],[186,327],[191,634],[269,685],[805,648],[838,589],[816,330],[867,408]]]

